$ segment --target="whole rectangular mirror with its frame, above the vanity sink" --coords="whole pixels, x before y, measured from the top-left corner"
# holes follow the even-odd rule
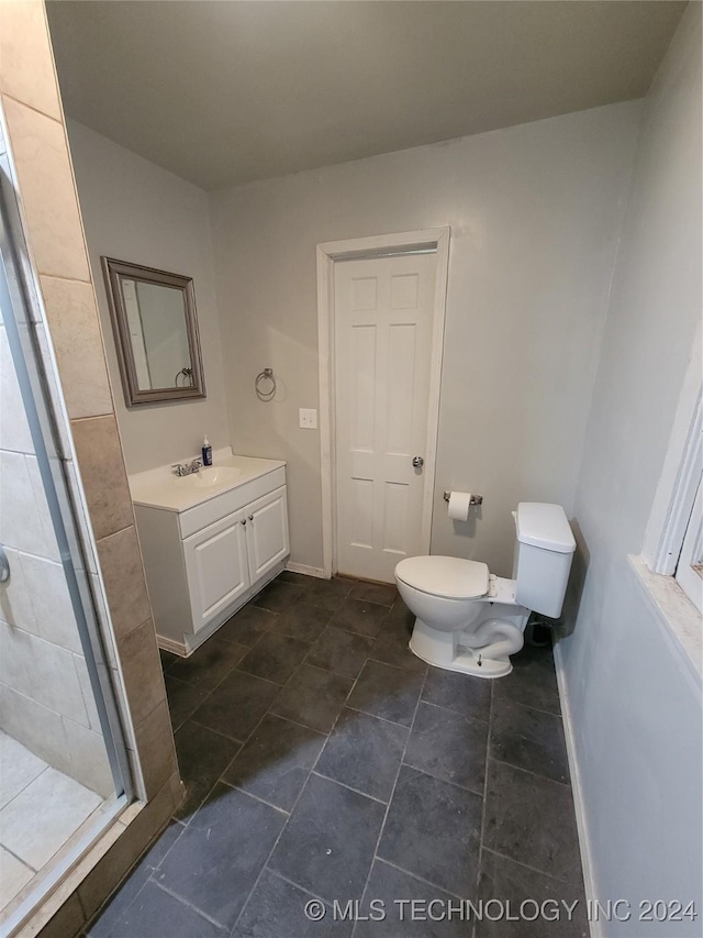
[[[127,407],[205,397],[192,279],[101,260]]]

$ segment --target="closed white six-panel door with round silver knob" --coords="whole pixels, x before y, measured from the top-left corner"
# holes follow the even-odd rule
[[[392,583],[423,548],[436,255],[334,269],[337,569]]]

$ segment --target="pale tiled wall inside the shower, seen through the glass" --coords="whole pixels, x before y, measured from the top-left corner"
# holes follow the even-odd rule
[[[0,728],[103,796],[114,791],[74,608],[0,324]]]

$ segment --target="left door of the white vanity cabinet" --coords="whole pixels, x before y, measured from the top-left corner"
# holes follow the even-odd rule
[[[244,520],[235,511],[183,541],[196,632],[249,588]]]

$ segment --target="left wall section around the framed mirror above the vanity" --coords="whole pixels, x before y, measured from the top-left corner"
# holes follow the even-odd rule
[[[213,446],[226,445],[223,356],[205,194],[76,121],[69,120],[67,128],[127,471],[141,472],[199,454],[204,433]],[[126,408],[100,267],[102,255],[193,278],[208,391],[204,400]]]

